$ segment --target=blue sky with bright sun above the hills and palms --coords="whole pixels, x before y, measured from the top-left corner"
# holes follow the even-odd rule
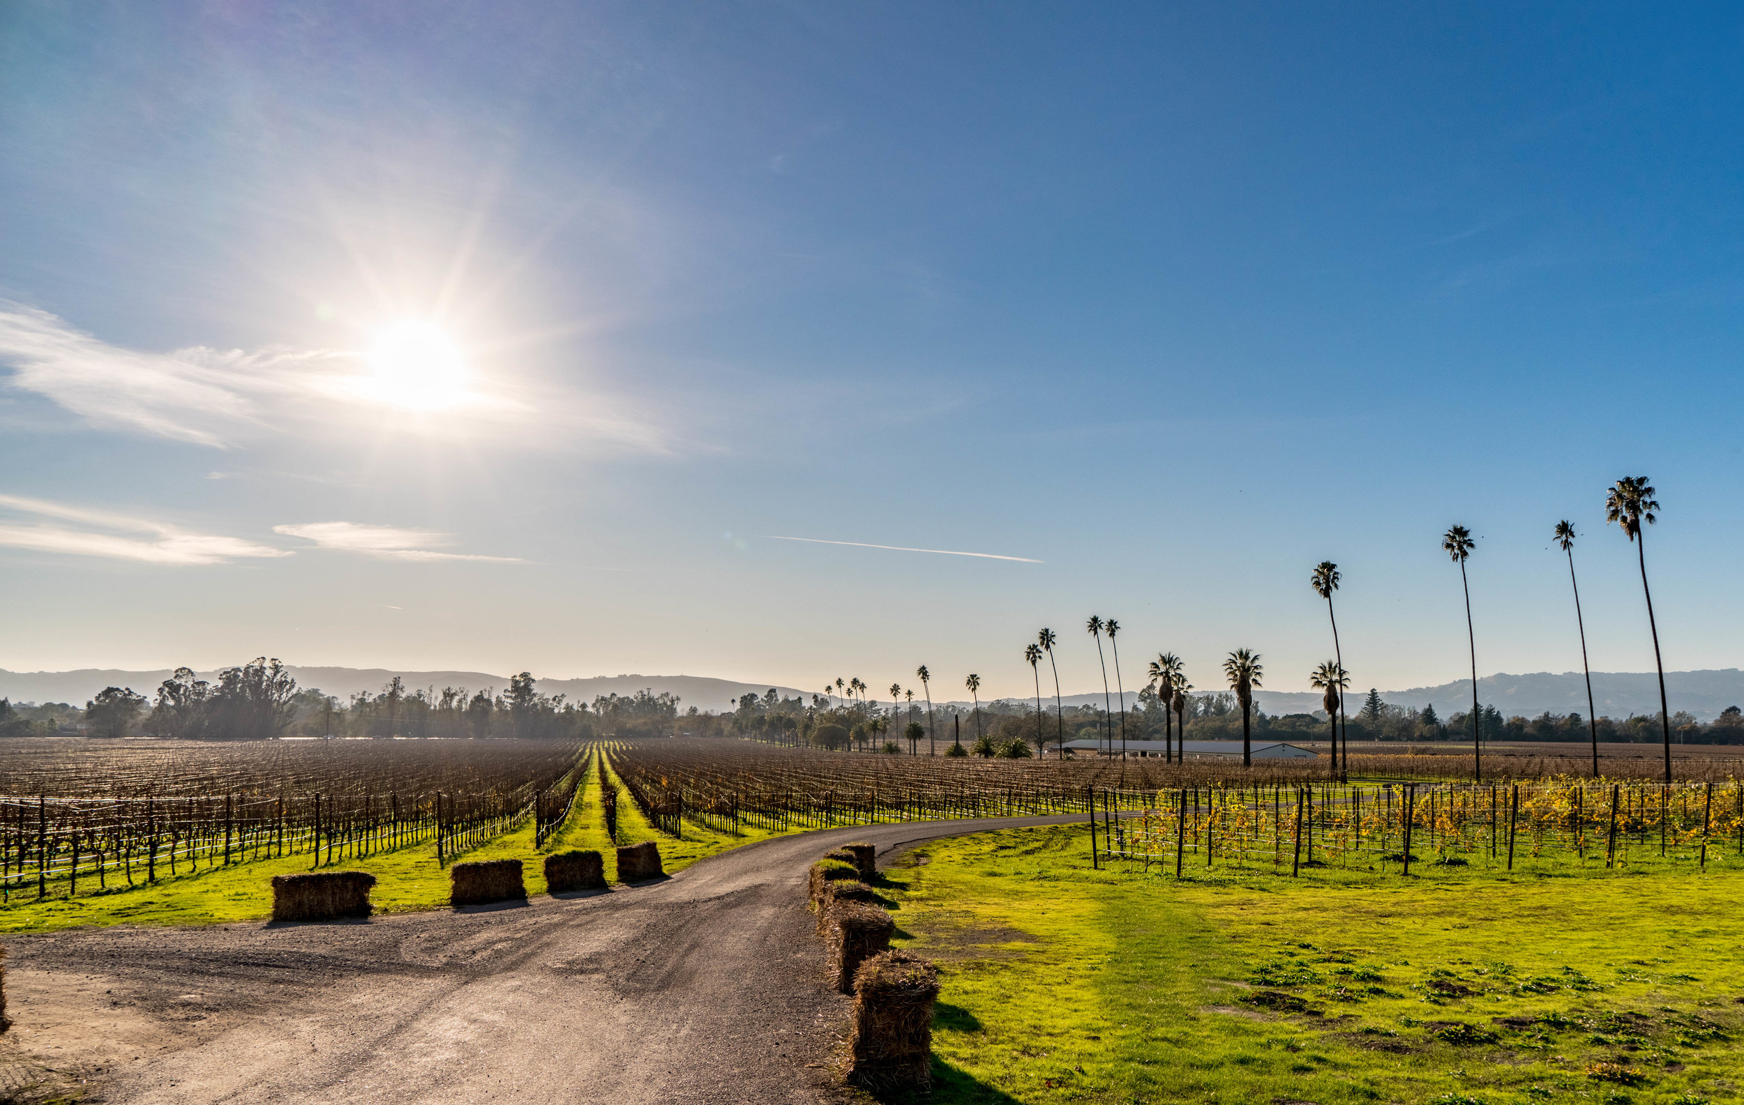
[[[1737,666],[1741,31],[5,5],[0,666]]]

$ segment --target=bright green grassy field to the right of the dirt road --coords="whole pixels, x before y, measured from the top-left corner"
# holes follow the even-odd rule
[[[931,1102],[1744,1096],[1744,880],[1092,871],[1081,826],[889,871],[944,993]]]

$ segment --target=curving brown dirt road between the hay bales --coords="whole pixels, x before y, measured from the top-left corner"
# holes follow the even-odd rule
[[[882,861],[1071,819],[783,837],[509,908],[10,938],[0,1095],[49,1068],[92,1100],[166,1105],[827,1102],[848,999],[823,981],[807,864],[846,840]]]

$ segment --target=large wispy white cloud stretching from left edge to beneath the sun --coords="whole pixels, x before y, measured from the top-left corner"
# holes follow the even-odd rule
[[[616,397],[534,394],[480,380],[431,413],[396,408],[356,350],[208,347],[141,352],[110,345],[45,310],[0,300],[5,383],[92,425],[237,448],[251,439],[340,429],[345,413],[371,425],[434,429],[448,437],[497,436],[521,446],[666,451],[664,436]]]

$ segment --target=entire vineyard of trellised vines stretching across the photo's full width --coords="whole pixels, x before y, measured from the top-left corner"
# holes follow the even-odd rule
[[[589,763],[600,767],[589,816],[605,840],[619,840],[621,783],[654,833],[703,837],[705,851],[849,824],[1074,814],[1092,826],[1093,863],[1142,871],[1744,866],[1744,786],[1728,776],[1659,784],[1510,772],[1479,786],[1456,781],[1453,756],[1392,755],[1353,756],[1353,767],[1409,770],[1331,783],[1318,758],[1243,772],[1226,760],[891,756],[724,739],[68,749],[52,739],[0,746],[3,901],[296,856],[319,868],[429,847],[445,864],[528,824],[542,849],[572,824]],[[1718,776],[1723,762],[1699,763]]]

